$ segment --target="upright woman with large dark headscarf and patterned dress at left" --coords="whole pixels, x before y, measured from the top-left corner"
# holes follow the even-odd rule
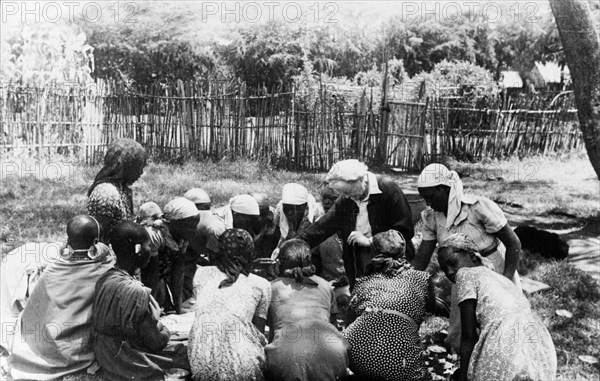
[[[146,159],[146,150],[135,140],[118,139],[108,146],[104,167],[88,189],[87,202],[88,213],[103,226],[103,242],[117,223],[133,220],[130,187],[144,172]]]

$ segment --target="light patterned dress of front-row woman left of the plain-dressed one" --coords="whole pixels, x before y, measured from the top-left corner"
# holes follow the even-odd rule
[[[193,379],[263,380],[266,339],[252,318],[267,318],[271,284],[250,274],[219,288],[225,279],[215,266],[198,267],[194,276],[196,319],[188,347]]]

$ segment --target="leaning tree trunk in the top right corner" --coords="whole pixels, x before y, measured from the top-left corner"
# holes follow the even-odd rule
[[[571,72],[579,126],[600,178],[600,40],[588,0],[550,0]]]

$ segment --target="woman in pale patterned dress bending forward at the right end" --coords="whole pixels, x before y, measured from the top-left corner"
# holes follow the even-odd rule
[[[438,257],[456,283],[461,318],[459,380],[554,380],[556,351],[520,288],[483,265],[475,243],[452,234]],[[480,329],[479,334],[477,328]]]

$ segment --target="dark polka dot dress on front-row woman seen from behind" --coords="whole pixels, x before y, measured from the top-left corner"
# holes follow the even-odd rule
[[[429,380],[421,360],[419,327],[425,305],[431,298],[429,275],[406,270],[397,276],[371,274],[357,280],[350,308],[358,318],[344,336],[350,343],[350,369],[361,379]],[[381,308],[402,312],[410,320],[384,312],[365,312]],[[415,324],[416,323],[416,324]]]

